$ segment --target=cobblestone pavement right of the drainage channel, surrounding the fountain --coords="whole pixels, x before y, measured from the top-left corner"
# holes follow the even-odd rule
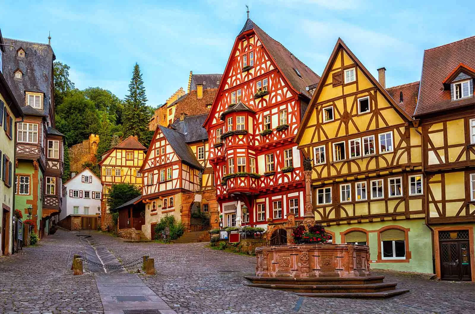
[[[119,260],[154,258],[157,276],[142,278],[177,313],[475,313],[475,284],[469,282],[384,272],[386,281],[411,291],[382,300],[299,297],[244,286],[243,276],[254,273],[254,257],[208,249],[204,243],[126,243],[104,233],[94,237]]]

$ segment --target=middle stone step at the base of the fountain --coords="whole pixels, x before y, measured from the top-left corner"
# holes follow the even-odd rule
[[[369,293],[395,290],[397,283],[377,283],[368,285],[269,285],[247,284],[259,288],[291,290],[299,293]]]

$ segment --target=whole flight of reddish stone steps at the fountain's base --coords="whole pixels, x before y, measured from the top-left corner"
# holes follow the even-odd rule
[[[384,276],[369,277],[320,277],[280,278],[245,277],[259,288],[281,289],[297,292],[298,296],[344,297],[344,298],[386,298],[408,292],[396,288],[397,283],[383,282]]]

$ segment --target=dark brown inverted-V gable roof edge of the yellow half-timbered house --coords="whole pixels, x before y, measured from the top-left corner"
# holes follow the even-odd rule
[[[317,85],[317,88],[314,92],[314,95],[312,96],[312,99],[310,100],[309,106],[307,110],[305,111],[304,118],[302,119],[302,122],[300,123],[300,126],[297,131],[297,135],[295,136],[295,143],[298,143],[299,140],[301,139],[302,135],[304,134],[305,127],[307,126],[308,120],[310,119],[310,116],[312,115],[312,112],[314,111],[315,108],[315,103],[318,100],[318,96],[320,95],[320,92],[322,91],[323,88],[323,83],[326,82],[328,75],[330,75],[330,72],[332,71],[332,65],[338,56],[338,52],[340,49],[343,49],[349,56],[350,58],[358,65],[358,67],[361,69],[361,71],[366,75],[366,77],[373,83],[376,88],[381,92],[381,94],[386,98],[386,100],[394,106],[397,112],[403,117],[403,119],[406,119],[408,121],[411,121],[412,118],[411,116],[404,111],[398,103],[396,103],[390,96],[390,94],[384,89],[381,84],[376,80],[373,75],[371,75],[370,71],[361,63],[361,61],[352,53],[350,48],[346,46],[346,44],[343,42],[342,38],[338,38],[336,41],[335,47],[333,48],[333,52],[330,55],[330,58],[328,59],[328,62],[325,66],[325,69],[323,70],[322,78],[320,80],[320,83]]]

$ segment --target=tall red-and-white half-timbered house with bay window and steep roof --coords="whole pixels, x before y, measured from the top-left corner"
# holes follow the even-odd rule
[[[224,226],[266,226],[304,213],[293,142],[319,76],[247,19],[204,127]],[[242,214],[241,214],[242,213]]]

